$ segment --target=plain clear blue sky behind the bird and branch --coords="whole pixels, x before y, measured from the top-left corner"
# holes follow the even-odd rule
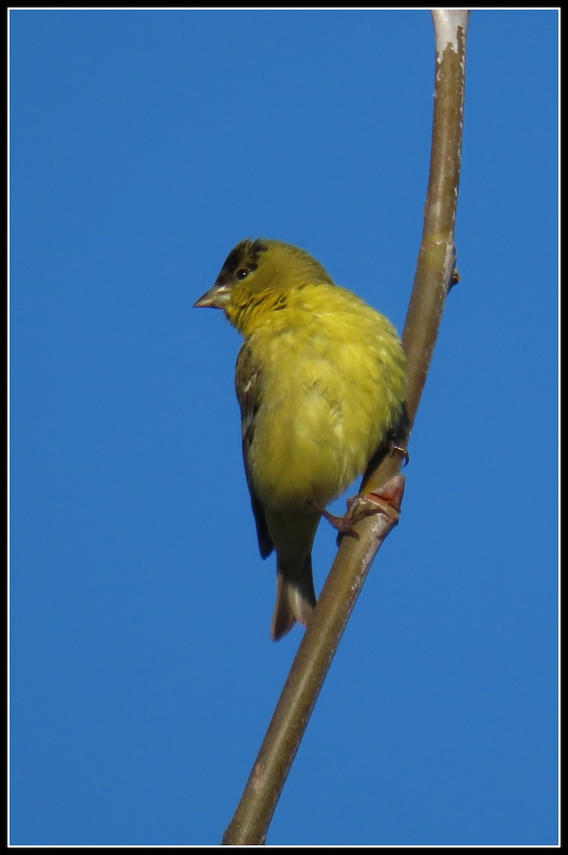
[[[269,640],[240,339],[192,303],[273,237],[402,328],[431,18],[9,25],[11,842],[216,845],[301,630]],[[557,840],[557,12],[475,11],[468,44],[462,280],[273,845]],[[322,525],[318,591],[334,551]]]

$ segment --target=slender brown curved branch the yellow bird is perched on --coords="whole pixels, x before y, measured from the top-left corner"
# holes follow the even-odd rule
[[[407,445],[422,398],[454,274],[454,227],[464,116],[467,9],[434,9],[436,80],[434,130],[423,240],[406,316],[403,344],[407,356],[406,418],[398,444]],[[356,524],[358,540],[344,537],[322,595],[299,646],[263,746],[240,805],[223,836],[233,846],[259,845],[298,751],[323,681],[353,606],[383,540],[398,522],[405,479],[397,455],[370,463],[361,494],[385,499],[388,514],[367,516]],[[361,495],[360,494],[360,495]]]

